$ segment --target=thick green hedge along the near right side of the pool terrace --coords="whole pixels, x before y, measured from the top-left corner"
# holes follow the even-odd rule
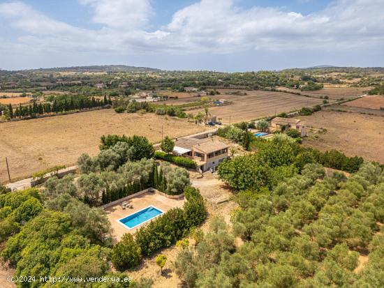
[[[207,210],[199,190],[189,186],[184,195],[187,201],[183,209],[171,209],[136,232],[135,242],[143,255],[169,247],[205,220]]]

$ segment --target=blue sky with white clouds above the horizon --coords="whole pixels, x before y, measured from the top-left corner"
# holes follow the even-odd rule
[[[384,0],[0,0],[0,69],[384,66]]]

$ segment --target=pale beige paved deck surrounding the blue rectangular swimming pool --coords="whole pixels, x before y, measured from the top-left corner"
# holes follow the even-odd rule
[[[121,208],[120,203],[105,209],[105,213],[107,213],[108,220],[110,220],[111,223],[114,241],[119,241],[121,236],[126,234],[126,232],[134,234],[140,227],[142,227],[142,225],[148,223],[146,222],[133,229],[128,229],[128,227],[119,222],[119,219],[145,209],[148,206],[154,206],[164,213],[172,208],[181,208],[184,205],[184,198],[170,199],[155,192],[147,192],[128,200],[128,202],[133,205],[133,209],[126,208],[124,210]]]

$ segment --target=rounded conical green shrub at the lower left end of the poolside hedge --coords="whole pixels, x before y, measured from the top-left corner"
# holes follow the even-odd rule
[[[130,233],[124,234],[112,249],[112,263],[119,271],[133,268],[140,262],[141,249]]]

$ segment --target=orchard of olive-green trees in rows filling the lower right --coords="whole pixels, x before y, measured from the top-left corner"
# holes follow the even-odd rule
[[[271,190],[239,192],[232,226],[212,220],[177,256],[177,275],[202,288],[383,287],[383,169],[365,163],[349,179],[324,175],[309,164]],[[369,260],[356,271],[361,252]]]

